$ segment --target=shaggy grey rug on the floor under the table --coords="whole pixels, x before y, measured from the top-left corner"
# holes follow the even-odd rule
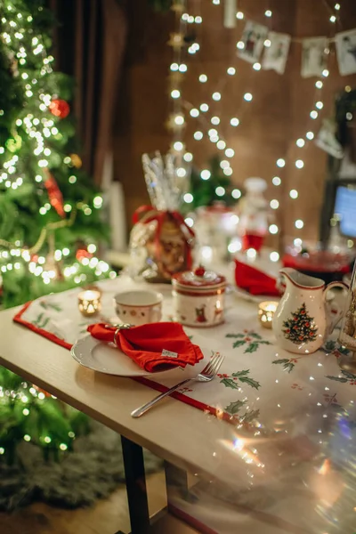
[[[0,457],[1,458],[1,457]],[[162,461],[144,451],[146,473]],[[0,510],[11,511],[34,501],[66,508],[90,506],[125,482],[120,436],[91,422],[91,432],[75,441],[73,452],[59,461],[44,461],[41,450],[23,442],[14,465],[0,459]]]

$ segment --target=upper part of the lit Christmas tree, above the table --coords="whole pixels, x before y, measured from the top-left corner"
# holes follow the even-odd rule
[[[42,0],[1,0],[0,270],[3,305],[107,276],[102,197],[83,171],[72,81],[53,69]],[[113,273],[114,276],[115,273]]]

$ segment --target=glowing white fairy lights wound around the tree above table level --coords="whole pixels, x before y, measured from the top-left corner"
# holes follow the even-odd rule
[[[40,11],[42,7],[38,8]],[[33,156],[35,159],[36,172],[33,179],[36,183],[40,184],[45,182],[48,177],[49,158],[51,158],[52,150],[50,148],[51,139],[61,139],[62,134],[57,128],[53,116],[51,116],[49,106],[53,99],[53,95],[49,93],[43,93],[39,87],[41,86],[41,79],[37,79],[33,75],[33,71],[30,67],[27,67],[28,54],[34,54],[42,58],[42,68],[39,72],[39,77],[44,78],[53,72],[52,63],[53,56],[48,54],[44,44],[43,36],[34,35],[31,39],[31,50],[26,50],[22,44],[24,36],[27,32],[27,26],[33,20],[32,15],[24,16],[21,12],[16,12],[15,8],[11,5],[7,5],[7,12],[4,12],[1,22],[2,30],[0,38],[4,44],[8,44],[8,56],[12,57],[12,69],[16,69],[16,76],[20,77],[24,83],[24,106],[23,115],[18,117],[15,121],[17,128],[21,128],[28,137],[33,140]],[[36,107],[36,116],[32,113],[26,113],[26,109],[33,109]],[[0,109],[0,115],[4,115],[4,110]],[[17,190],[25,183],[23,175],[17,170],[19,164],[19,156],[15,153],[20,150],[21,136],[16,132],[12,132],[13,140],[8,140],[5,146],[0,146],[0,154],[4,154],[3,169],[0,170],[0,184],[5,189]],[[77,157],[77,155],[74,155]],[[78,158],[78,157],[77,157]],[[73,158],[66,156],[63,159],[63,164],[70,167],[72,170]],[[32,179],[32,178],[31,178]],[[77,175],[73,171],[69,175],[69,184],[74,185],[77,182]],[[51,280],[56,278],[56,271],[52,268],[46,269],[46,258],[43,255],[38,255],[36,260],[34,255],[40,252],[41,247],[44,245],[44,241],[50,231],[55,231],[63,226],[71,226],[77,216],[77,212],[81,211],[83,214],[89,216],[92,214],[93,209],[101,209],[102,197],[97,195],[93,198],[93,205],[89,206],[85,202],[66,202],[63,206],[64,212],[69,214],[69,217],[61,220],[58,223],[48,223],[44,225],[44,228],[39,234],[36,243],[28,246],[28,244],[22,243],[20,240],[15,242],[9,242],[4,239],[0,239],[0,260],[1,272],[20,270],[21,263],[19,261],[22,258],[23,261],[28,263],[28,271],[35,276],[42,277],[45,284],[49,284]],[[39,214],[45,215],[53,206],[49,201],[44,201],[43,206],[39,207]],[[90,254],[94,254],[96,246],[91,243],[87,247]],[[53,250],[53,259],[58,262],[62,258],[69,256],[70,250],[68,247],[62,249]],[[109,271],[109,264],[100,261],[99,258],[93,256],[91,258],[83,257],[78,260],[83,265],[93,269],[95,275],[100,276],[102,273]],[[83,283],[86,279],[85,273],[77,274],[79,270],[79,263],[75,262],[73,265],[66,267],[63,271],[63,275],[66,279],[73,278],[76,284]],[[115,271],[110,271],[109,276],[115,278]]]

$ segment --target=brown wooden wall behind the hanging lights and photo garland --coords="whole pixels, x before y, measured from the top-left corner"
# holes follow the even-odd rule
[[[140,3],[144,4],[143,0]],[[239,0],[239,8],[246,18],[294,37],[331,36],[336,28],[356,28],[356,2],[340,0],[341,26],[329,21],[334,4],[331,0]],[[327,157],[313,142],[298,149],[295,140],[303,137],[308,129],[319,131],[322,118],[333,112],[336,93],[345,85],[356,86],[356,76],[340,77],[332,52],[330,76],[322,91],[318,91],[314,85],[317,78],[300,76],[301,44],[298,43],[291,45],[283,76],[274,71],[256,72],[236,56],[236,43],[246,20],[239,20],[237,28],[223,28],[223,2],[217,6],[211,0],[188,0],[188,5],[189,12],[202,15],[203,24],[195,26],[200,51],[186,60],[188,72],[184,75],[183,99],[196,107],[205,101],[210,106],[206,116],[221,118],[218,130],[235,150],[231,160],[233,181],[241,184],[248,176],[262,176],[269,183],[268,197],[279,199],[276,215],[283,231],[278,238],[271,238],[271,244],[278,247],[294,237],[317,239]],[[271,19],[264,17],[265,9],[271,9]],[[131,57],[135,46],[141,53],[126,64],[125,86],[117,109],[116,176],[124,184],[128,219],[134,208],[148,200],[142,177],[142,152],[166,151],[171,141],[165,122],[171,105],[167,75],[172,50],[166,41],[174,28],[174,16],[173,13],[145,13],[146,24],[138,25],[136,20],[140,31],[130,40]],[[137,17],[140,18],[140,10],[135,11]],[[234,77],[226,74],[231,66],[237,69]],[[198,82],[201,73],[209,78],[206,84]],[[221,101],[211,99],[214,91],[222,93]],[[243,100],[247,92],[254,95],[252,102]],[[313,121],[309,113],[316,93],[325,105],[318,120]],[[239,127],[231,127],[231,117],[239,117]],[[199,120],[187,114],[186,148],[193,152],[195,163],[204,167],[217,150],[206,134],[202,141],[194,141],[192,135],[198,129],[203,130]],[[287,159],[284,169],[276,166],[278,158]],[[297,158],[304,161],[301,170],[295,168]],[[271,183],[276,174],[282,179],[278,188]],[[289,197],[291,189],[299,191],[299,198]],[[296,218],[305,223],[301,231],[295,230]]]

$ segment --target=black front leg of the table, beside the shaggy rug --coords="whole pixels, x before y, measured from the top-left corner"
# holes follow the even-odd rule
[[[121,443],[131,534],[148,534],[150,514],[142,447],[136,445],[134,441],[127,440],[124,436],[121,436]]]

